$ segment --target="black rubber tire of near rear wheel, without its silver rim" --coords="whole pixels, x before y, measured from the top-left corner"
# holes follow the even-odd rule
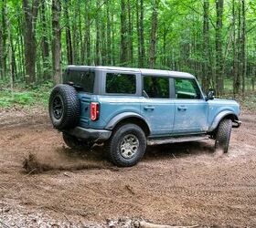
[[[138,141],[136,152],[131,158],[124,158],[121,150],[121,143],[125,137],[133,137]],[[119,167],[130,167],[138,163],[144,156],[146,149],[146,138],[144,130],[135,124],[124,124],[113,130],[112,137],[107,141],[106,150],[112,163]]]

